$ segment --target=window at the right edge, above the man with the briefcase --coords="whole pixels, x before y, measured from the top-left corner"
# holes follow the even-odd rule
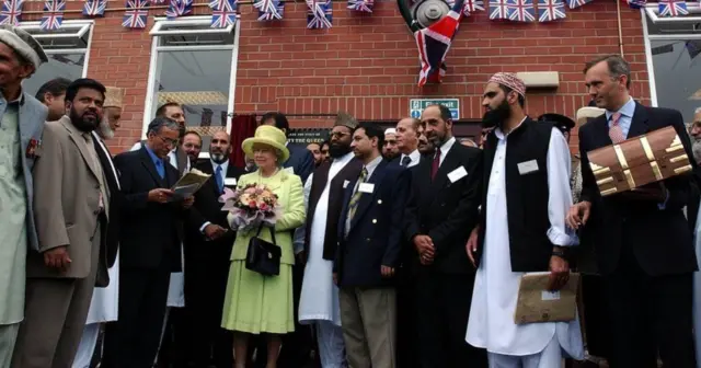
[[[658,16],[657,4],[643,10],[653,105],[678,110],[690,123],[701,107],[701,7],[687,2],[689,14]]]

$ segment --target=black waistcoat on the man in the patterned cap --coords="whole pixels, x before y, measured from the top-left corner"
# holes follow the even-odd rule
[[[526,120],[506,137],[505,192],[509,234],[509,255],[513,272],[548,271],[552,254],[552,242],[548,239],[548,147],[552,124]],[[484,233],[487,226],[502,218],[486,218],[487,192],[492,165],[496,153],[497,138],[492,131],[484,146],[484,183],[478,260],[484,249]],[[538,170],[521,174],[528,168]],[[519,163],[521,170],[519,170]]]

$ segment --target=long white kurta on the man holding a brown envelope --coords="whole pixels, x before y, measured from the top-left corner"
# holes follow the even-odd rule
[[[512,272],[506,204],[506,137],[498,138],[486,197],[486,227],[484,252],[476,273],[470,321],[466,341],[493,354],[527,356],[541,353],[558,337],[560,346],[575,358],[584,357],[579,321],[548,322],[517,325],[514,313],[518,288],[524,273]],[[548,238],[556,245],[574,245],[576,235],[565,227],[565,215],[572,206],[570,189],[570,149],[562,133],[553,128],[548,149],[547,170],[550,196],[548,216],[551,228]],[[542,170],[542,169],[541,169]]]

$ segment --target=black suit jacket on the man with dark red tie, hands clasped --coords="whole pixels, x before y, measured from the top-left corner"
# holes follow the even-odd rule
[[[470,231],[478,225],[480,181],[482,180],[482,151],[455,142],[430,181],[433,157],[423,158],[412,172],[412,189],[405,211],[405,234],[412,242],[416,235],[430,237],[436,246],[433,267],[441,273],[474,272],[464,245]],[[468,175],[451,183],[448,174],[464,168]],[[415,266],[418,258],[414,256]]]

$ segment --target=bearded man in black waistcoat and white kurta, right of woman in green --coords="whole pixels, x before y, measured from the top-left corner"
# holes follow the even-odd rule
[[[345,367],[338,288],[333,283],[333,261],[343,194],[348,182],[360,174],[363,162],[350,152],[355,117],[338,114],[331,130],[331,162],[322,163],[306,183],[309,193],[304,250],[304,279],[299,301],[299,321],[317,330],[319,355],[324,368]]]

